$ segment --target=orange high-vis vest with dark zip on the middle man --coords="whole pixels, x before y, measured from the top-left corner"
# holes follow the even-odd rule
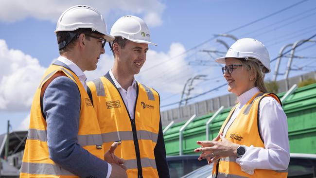
[[[119,90],[109,73],[88,82],[105,151],[118,140],[115,155],[125,159],[128,178],[158,178],[154,148],[158,139],[159,95],[137,82],[135,118],[130,118]]]

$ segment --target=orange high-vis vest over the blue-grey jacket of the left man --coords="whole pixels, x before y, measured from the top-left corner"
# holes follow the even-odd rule
[[[104,160],[102,137],[95,111],[79,78],[69,69],[52,64],[44,73],[31,107],[30,126],[24,149],[20,178],[78,178],[69,171],[56,165],[49,158],[47,146],[47,123],[41,112],[40,94],[43,85],[56,72],[64,72],[78,86],[81,108],[78,129],[78,144],[91,154]],[[74,162],[75,164],[75,162]]]

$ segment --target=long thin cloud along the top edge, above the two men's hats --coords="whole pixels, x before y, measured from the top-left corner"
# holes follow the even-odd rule
[[[63,11],[77,4],[95,7],[105,18],[119,11],[124,15],[141,15],[150,26],[162,24],[161,15],[165,9],[158,0],[89,0],[88,3],[86,0],[1,0],[0,20],[14,22],[37,18],[55,23]]]

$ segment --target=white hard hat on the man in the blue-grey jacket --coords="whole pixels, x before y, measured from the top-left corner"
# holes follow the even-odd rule
[[[107,33],[103,16],[88,5],[75,5],[63,12],[57,21],[55,33],[75,31],[79,28],[90,28],[103,34],[106,41],[114,40],[114,37]]]

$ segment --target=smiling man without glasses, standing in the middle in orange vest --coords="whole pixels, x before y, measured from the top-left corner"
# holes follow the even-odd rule
[[[119,18],[111,29],[114,65],[88,82],[104,147],[121,141],[116,155],[125,160],[128,177],[169,178],[158,92],[135,81],[146,61],[150,33],[135,16]],[[88,90],[89,90],[88,89]]]

